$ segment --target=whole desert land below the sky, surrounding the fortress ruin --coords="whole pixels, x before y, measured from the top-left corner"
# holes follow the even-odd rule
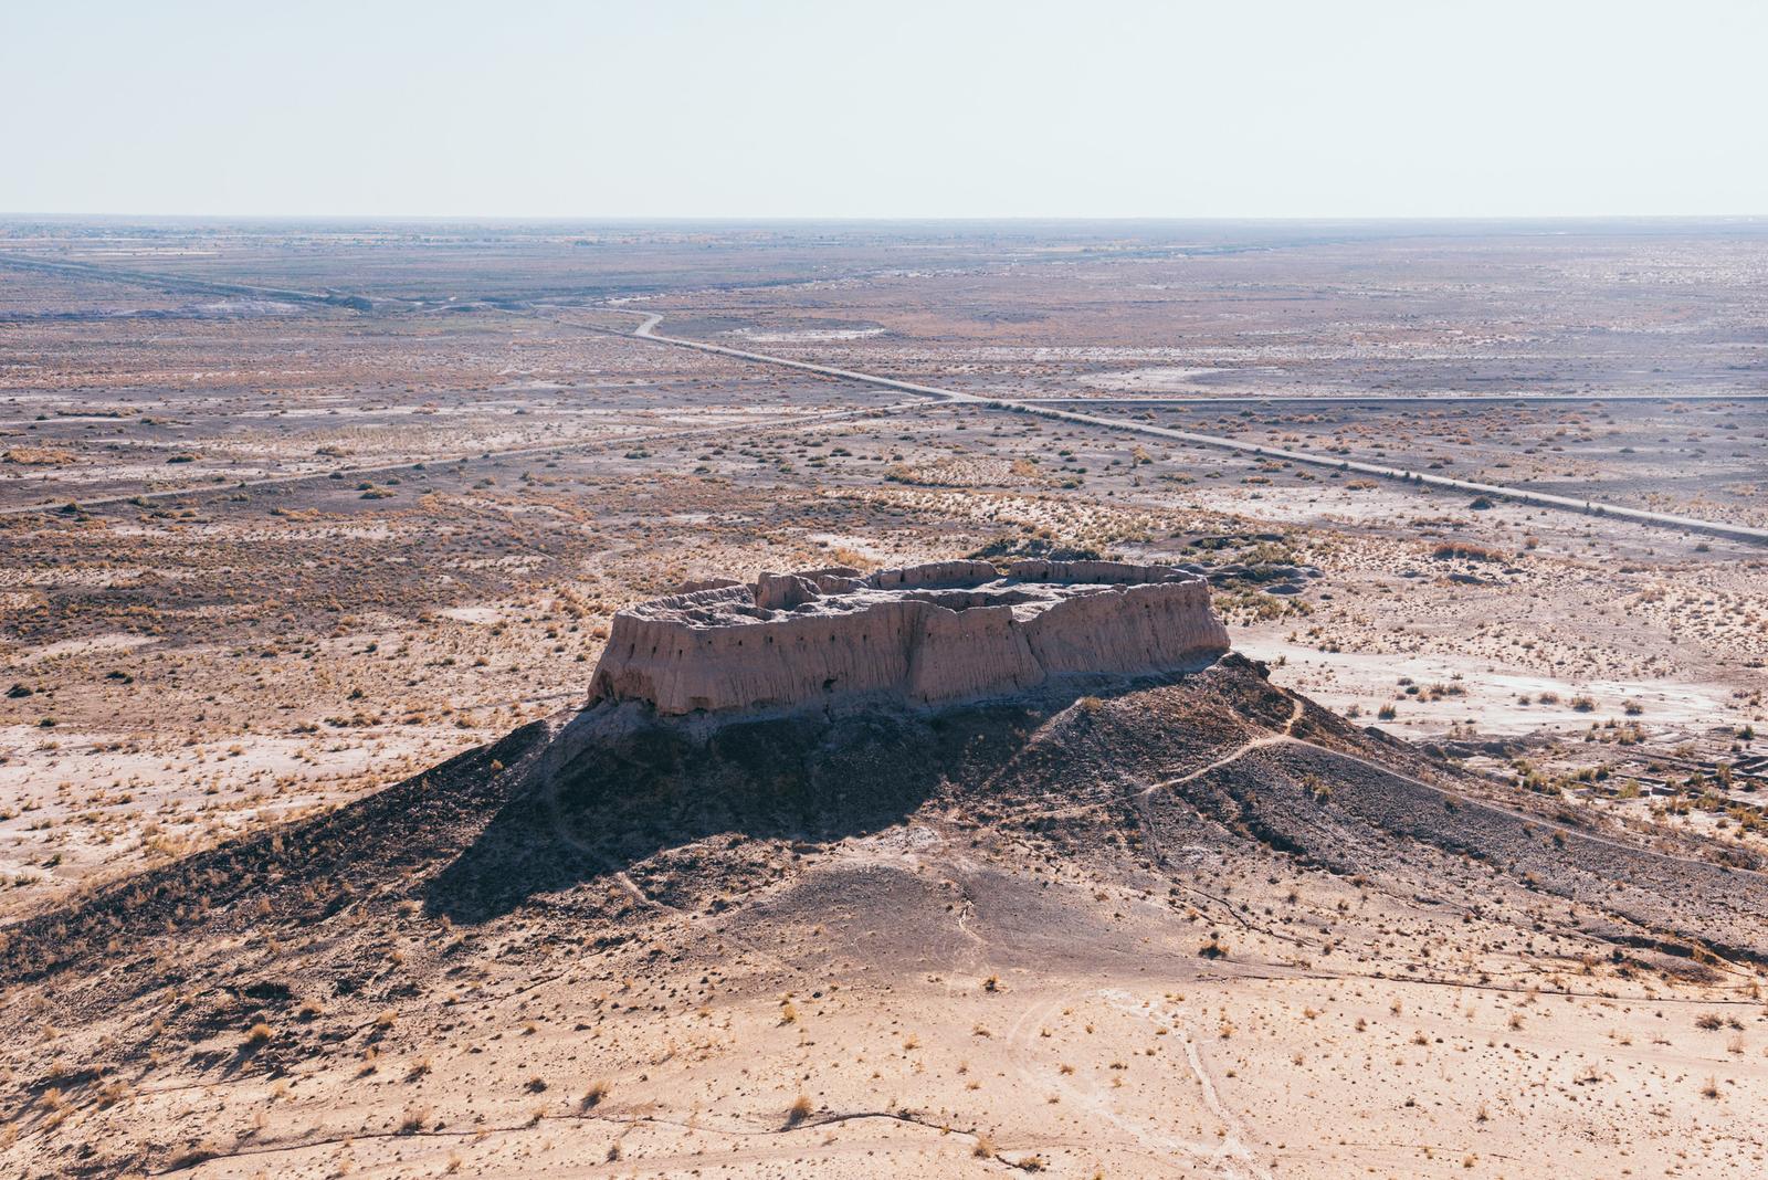
[[[949,558],[1234,655],[560,754]],[[9,221],[0,1171],[1763,1175],[1764,661],[1759,223]]]

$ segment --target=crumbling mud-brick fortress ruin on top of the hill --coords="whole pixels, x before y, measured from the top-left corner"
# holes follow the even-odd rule
[[[935,562],[718,579],[619,611],[592,701],[659,714],[930,705],[1227,652],[1202,578],[1119,562]]]

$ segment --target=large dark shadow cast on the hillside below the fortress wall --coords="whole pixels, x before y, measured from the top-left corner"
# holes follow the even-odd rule
[[[879,832],[948,784],[985,783],[1078,696],[771,717],[698,733],[644,724],[582,740],[431,880],[426,908],[484,922],[707,837],[831,843]]]

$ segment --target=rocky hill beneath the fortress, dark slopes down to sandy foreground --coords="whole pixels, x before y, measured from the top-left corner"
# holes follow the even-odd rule
[[[1335,1120],[1400,1136],[1413,1099],[1524,1157],[1558,1116],[1473,1104],[1559,1060],[1577,996],[1611,1032],[1605,996],[1653,1032],[1754,1019],[1768,890],[1697,853],[1499,798],[1238,655],[939,710],[592,708],[0,934],[0,1171],[1250,1176]],[[1512,1051],[1549,1016],[1559,1051]],[[1416,1049],[1459,1026],[1505,1048]],[[1383,1065],[1321,1056],[1301,1138],[1257,1079],[1322,1037]],[[1697,1127],[1685,1090],[1639,1101]]]

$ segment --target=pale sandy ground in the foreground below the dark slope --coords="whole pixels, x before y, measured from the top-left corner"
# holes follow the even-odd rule
[[[196,1176],[1763,1168],[1768,1033],[1749,973],[1641,975],[1575,938],[1317,873],[1234,874],[1275,934],[1236,931],[1204,959],[1204,927],[1160,897],[1071,867],[1033,885],[1045,867],[1024,850],[958,851],[919,827],[817,871],[847,876],[850,903],[815,924],[739,934],[686,915],[585,956],[525,945],[523,926],[557,929],[536,915],[497,933],[509,966],[465,931],[449,979],[419,964],[463,933],[414,920],[385,954],[421,972],[421,1000],[269,1072],[249,1055],[194,1085],[156,1070],[62,1134],[154,1125],[189,1145]],[[866,883],[895,889],[880,880],[967,901],[939,931],[900,901],[868,908]],[[1022,887],[1084,915],[1098,961],[1018,945],[988,892]],[[880,975],[886,949],[898,966]],[[240,1044],[223,1028],[187,1053],[226,1062]]]

